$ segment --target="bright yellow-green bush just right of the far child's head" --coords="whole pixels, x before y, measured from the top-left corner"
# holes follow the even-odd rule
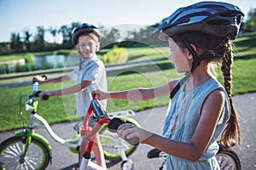
[[[102,61],[104,64],[123,64],[128,60],[128,50],[114,46],[107,54],[103,55]]]

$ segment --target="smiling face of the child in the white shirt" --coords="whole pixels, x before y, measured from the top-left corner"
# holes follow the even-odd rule
[[[96,54],[98,50],[99,42],[96,42],[89,35],[83,35],[79,37],[79,51],[84,56],[85,59],[88,59]]]

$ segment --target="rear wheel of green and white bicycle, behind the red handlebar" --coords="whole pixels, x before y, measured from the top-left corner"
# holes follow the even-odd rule
[[[138,144],[131,145],[124,139],[120,139],[117,133],[110,132],[108,124],[102,126],[99,134],[105,159],[109,161],[121,161],[120,154],[122,151],[125,151],[125,156],[130,156],[137,149]]]

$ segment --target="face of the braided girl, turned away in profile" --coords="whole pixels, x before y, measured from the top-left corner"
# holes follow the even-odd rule
[[[177,46],[177,43],[172,40],[171,37],[168,39],[168,42],[169,47],[171,48],[172,51],[170,59],[172,60],[172,63],[176,71],[178,73],[190,71],[189,65],[191,65],[191,59],[189,57],[188,50],[186,49],[186,51],[183,52],[181,48]]]

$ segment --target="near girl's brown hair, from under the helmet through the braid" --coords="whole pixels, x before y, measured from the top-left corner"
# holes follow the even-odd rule
[[[231,116],[224,132],[221,134],[219,143],[225,148],[230,148],[234,144],[241,145],[241,133],[239,128],[238,116],[235,106],[231,99],[232,88],[232,71],[231,65],[233,64],[232,43],[229,37],[214,37],[212,35],[202,33],[200,31],[187,31],[182,33],[183,37],[193,43],[197,48],[204,51],[204,58],[213,63],[222,63],[221,71],[224,77],[224,88],[230,99]],[[180,35],[173,36],[172,39],[177,42],[177,45],[183,50],[185,45],[180,38]]]

